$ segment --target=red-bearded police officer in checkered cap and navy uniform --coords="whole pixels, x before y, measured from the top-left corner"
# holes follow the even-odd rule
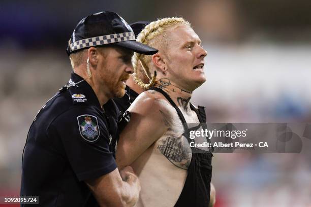
[[[27,135],[21,196],[39,196],[40,206],[135,204],[139,181],[131,167],[117,169],[111,143],[119,116],[111,98],[125,94],[133,51],[157,52],[136,42],[114,12],[77,24],[67,48],[71,79],[42,107]]]

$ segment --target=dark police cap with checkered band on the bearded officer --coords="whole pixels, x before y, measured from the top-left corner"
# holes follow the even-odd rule
[[[115,12],[99,12],[83,18],[74,29],[67,53],[107,44],[127,48],[137,53],[152,55],[157,49],[135,41],[131,26]]]

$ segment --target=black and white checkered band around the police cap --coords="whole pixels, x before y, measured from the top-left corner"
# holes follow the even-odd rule
[[[79,40],[70,44],[70,51],[80,50],[83,48],[105,45],[110,43],[117,43],[123,41],[135,40],[134,32],[124,32],[118,34],[108,34],[105,36],[99,36],[94,38],[87,38]]]

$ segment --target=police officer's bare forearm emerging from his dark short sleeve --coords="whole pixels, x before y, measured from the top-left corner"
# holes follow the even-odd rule
[[[131,167],[120,172],[116,168],[98,179],[86,181],[100,206],[134,206],[138,200],[140,184]]]

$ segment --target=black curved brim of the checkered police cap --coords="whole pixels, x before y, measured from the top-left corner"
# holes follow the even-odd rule
[[[153,55],[158,52],[157,49],[149,47],[145,44],[136,42],[136,41],[123,41],[114,43],[114,45],[133,50],[134,52],[144,54],[144,55]]]

